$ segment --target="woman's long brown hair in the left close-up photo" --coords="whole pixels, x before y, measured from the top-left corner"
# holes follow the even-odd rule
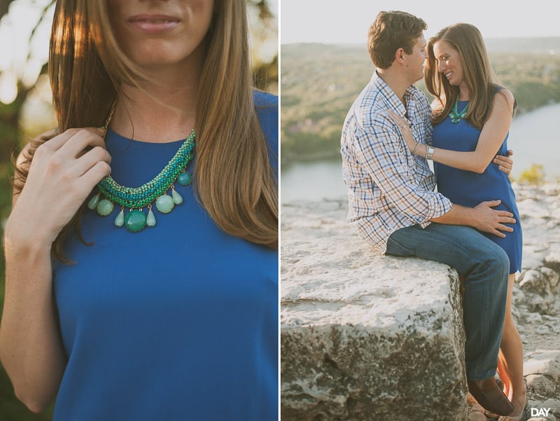
[[[269,163],[276,151],[267,147],[253,104],[244,0],[216,0],[205,41],[195,123],[197,197],[226,233],[277,249],[277,183]],[[57,1],[49,71],[59,132],[101,127],[119,86],[146,79],[118,48],[106,1]],[[34,151],[48,139],[34,139],[15,168],[16,193],[25,185]],[[82,209],[55,240],[55,258],[64,261],[62,241],[69,230],[80,235]]]

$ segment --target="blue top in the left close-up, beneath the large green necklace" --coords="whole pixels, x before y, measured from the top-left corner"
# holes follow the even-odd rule
[[[277,171],[277,98],[258,93],[255,104]],[[144,184],[182,143],[109,130],[113,178]],[[154,207],[156,225],[140,233],[114,226],[120,208],[85,209],[93,244],[72,236],[75,263],[55,263],[68,365],[54,420],[277,420],[278,253],[225,234],[192,185],[175,186],[183,204]]]

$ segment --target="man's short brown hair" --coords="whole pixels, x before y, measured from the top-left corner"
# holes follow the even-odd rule
[[[375,67],[391,67],[399,48],[412,54],[416,39],[419,39],[426,28],[426,22],[410,13],[379,12],[367,34],[367,51]]]

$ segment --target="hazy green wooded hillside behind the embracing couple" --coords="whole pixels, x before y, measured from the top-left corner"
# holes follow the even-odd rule
[[[560,102],[560,37],[486,43],[498,78],[514,92],[517,113]],[[344,116],[373,70],[365,46],[281,46],[283,162],[338,155]]]

